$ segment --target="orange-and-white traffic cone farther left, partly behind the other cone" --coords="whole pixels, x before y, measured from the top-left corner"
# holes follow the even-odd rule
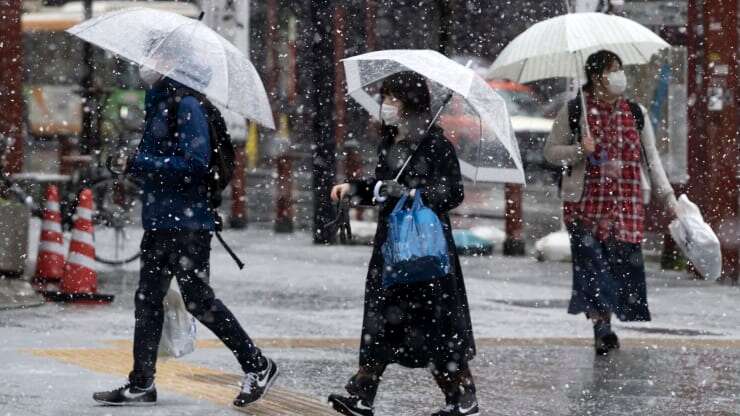
[[[59,284],[64,275],[65,254],[67,253],[64,251],[59,189],[54,185],[49,185],[46,188],[46,207],[42,216],[36,274],[33,277],[36,290],[47,290],[50,285]]]

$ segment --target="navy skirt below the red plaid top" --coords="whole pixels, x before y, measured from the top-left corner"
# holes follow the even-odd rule
[[[596,239],[568,224],[573,257],[573,292],[568,313],[614,313],[621,321],[649,321],[645,262],[640,244]]]

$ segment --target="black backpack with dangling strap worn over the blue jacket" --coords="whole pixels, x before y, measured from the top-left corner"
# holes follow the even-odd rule
[[[244,262],[234,253],[228,244],[221,237],[221,231],[223,230],[223,219],[218,213],[218,208],[223,202],[221,194],[231,182],[234,177],[234,170],[236,166],[236,151],[234,150],[234,144],[231,142],[231,136],[229,130],[226,127],[226,121],[224,120],[221,112],[211,103],[203,94],[190,89],[179,89],[175,92],[172,105],[167,109],[167,122],[168,131],[172,132],[172,135],[177,135],[177,113],[179,110],[180,101],[183,98],[190,96],[198,100],[200,105],[206,113],[206,119],[208,120],[208,136],[211,141],[211,157],[208,161],[208,175],[206,176],[206,187],[208,189],[208,205],[213,211],[213,215],[216,222],[216,238],[221,242],[226,251],[236,262],[239,269],[244,268]]]

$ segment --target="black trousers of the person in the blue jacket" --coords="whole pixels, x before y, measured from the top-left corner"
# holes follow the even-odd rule
[[[265,360],[229,309],[208,285],[210,231],[146,231],[141,241],[141,274],[136,291],[134,369],[131,379],[154,379],[162,337],[162,301],[174,277],[188,311],[234,353],[244,372],[260,370]]]

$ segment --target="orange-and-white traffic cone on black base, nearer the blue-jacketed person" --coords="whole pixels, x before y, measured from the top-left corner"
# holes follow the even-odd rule
[[[77,204],[77,215],[72,241],[69,244],[69,257],[64,265],[64,277],[60,291],[46,293],[53,301],[109,303],[113,295],[98,292],[98,273],[95,271],[95,246],[93,245],[93,201],[92,191],[83,189]]]

